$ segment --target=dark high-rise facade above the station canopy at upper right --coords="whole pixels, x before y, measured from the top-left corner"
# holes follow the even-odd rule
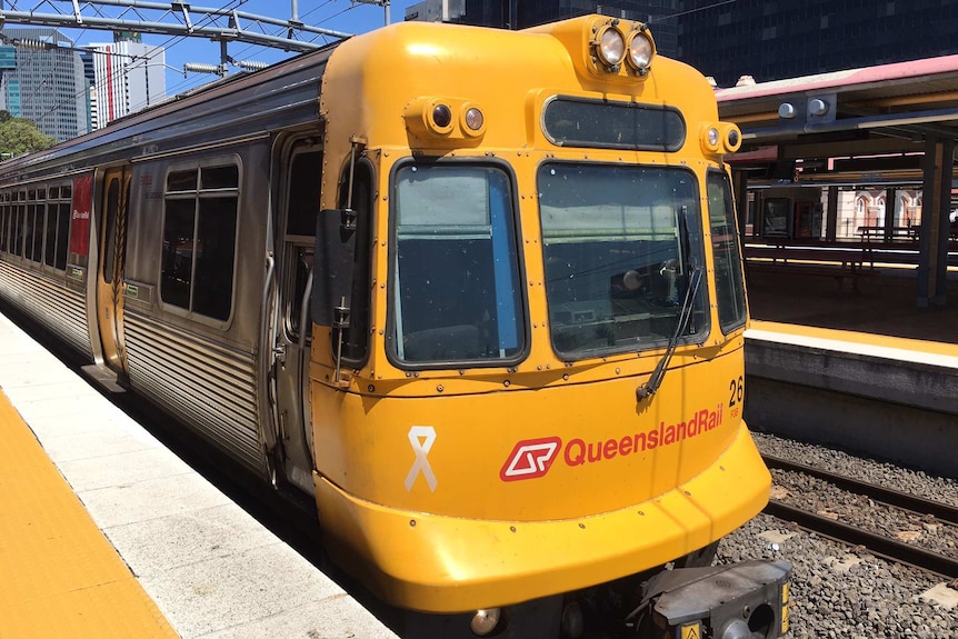
[[[958,53],[958,0],[681,0],[678,58],[719,87]]]

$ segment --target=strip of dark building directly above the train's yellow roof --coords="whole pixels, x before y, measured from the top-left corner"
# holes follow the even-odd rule
[[[679,0],[427,0],[406,10],[407,20],[446,20],[500,29],[526,29],[587,13],[637,20],[649,24],[656,49],[675,57],[678,48]]]

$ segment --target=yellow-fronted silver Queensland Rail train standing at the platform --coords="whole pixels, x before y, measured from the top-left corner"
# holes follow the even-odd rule
[[[776,637],[790,567],[710,567],[740,139],[641,23],[395,24],[0,164],[0,296],[449,636]]]

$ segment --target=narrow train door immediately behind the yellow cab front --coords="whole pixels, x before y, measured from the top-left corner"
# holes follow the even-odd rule
[[[322,149],[311,139],[285,151],[277,241],[277,318],[273,397],[286,477],[310,492],[312,431],[309,422],[309,296],[322,174]]]

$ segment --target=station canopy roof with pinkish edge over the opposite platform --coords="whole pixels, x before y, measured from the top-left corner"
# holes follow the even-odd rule
[[[958,56],[717,89],[749,182],[921,182],[926,140],[958,140]]]

